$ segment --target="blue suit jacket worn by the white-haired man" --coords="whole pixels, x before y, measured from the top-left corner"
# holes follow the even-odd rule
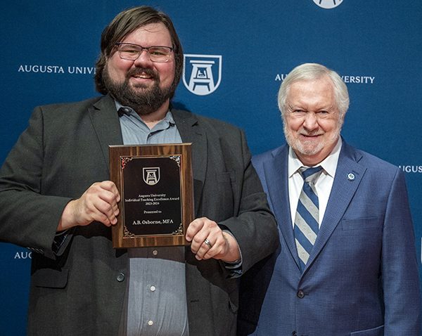
[[[288,146],[252,163],[281,245],[242,279],[238,335],[420,335],[418,266],[402,171],[343,141],[302,273],[288,200]]]

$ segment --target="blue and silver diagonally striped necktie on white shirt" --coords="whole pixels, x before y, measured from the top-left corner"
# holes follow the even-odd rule
[[[319,231],[319,202],[315,183],[321,175],[322,167],[301,167],[299,171],[304,183],[296,210],[294,232],[300,266],[303,271]]]

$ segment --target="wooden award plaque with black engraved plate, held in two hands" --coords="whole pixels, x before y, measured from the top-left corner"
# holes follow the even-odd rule
[[[193,221],[191,143],[110,146],[110,179],[120,192],[113,247],[188,245]]]

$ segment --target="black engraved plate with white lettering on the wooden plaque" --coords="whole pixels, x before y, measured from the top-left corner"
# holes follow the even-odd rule
[[[124,235],[169,235],[181,227],[180,155],[122,157]],[[134,183],[136,181],[136,183]]]

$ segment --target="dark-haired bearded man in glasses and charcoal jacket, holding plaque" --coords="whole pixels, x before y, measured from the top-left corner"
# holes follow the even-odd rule
[[[27,335],[236,335],[238,277],[278,245],[242,131],[171,108],[183,53],[148,6],[101,36],[103,96],[35,108],[0,171],[0,239],[32,254]],[[192,143],[188,247],[114,250],[108,146]]]

